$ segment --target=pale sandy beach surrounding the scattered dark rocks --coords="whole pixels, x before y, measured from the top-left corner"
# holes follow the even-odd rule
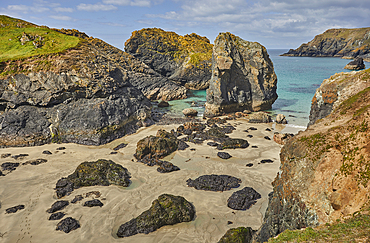
[[[0,177],[0,242],[217,242],[230,228],[249,226],[254,230],[262,223],[268,203],[268,193],[272,191],[271,182],[279,171],[279,152],[281,145],[272,139],[275,131],[296,133],[297,128],[284,125],[251,124],[244,119],[229,121],[236,130],[229,134],[232,138],[248,140],[250,146],[245,149],[226,149],[233,157],[223,160],[217,157],[215,147],[205,141],[201,145],[188,143],[184,151],[176,151],[164,160],[180,168],[171,173],[159,173],[157,167],[149,167],[133,161],[138,140],[148,135],[155,135],[158,129],[170,131],[178,125],[150,126],[141,128],[135,134],[117,139],[102,146],[83,146],[77,144],[48,144],[37,147],[5,148],[0,154],[29,154],[23,159],[1,158],[5,162],[26,162],[43,158],[47,162],[39,165],[20,165],[15,171]],[[257,130],[244,132],[249,127]],[[266,131],[266,128],[273,128]],[[247,135],[253,135],[248,138]],[[268,136],[271,140],[264,137]],[[115,146],[128,143],[117,154],[110,154]],[[57,150],[59,147],[64,150]],[[252,148],[257,146],[258,148]],[[195,150],[191,150],[191,149]],[[43,154],[49,150],[51,155]],[[127,168],[131,174],[131,185],[127,188],[111,186],[83,187],[72,192],[63,200],[71,201],[76,195],[99,191],[102,207],[83,207],[84,198],[76,204],[69,204],[62,210],[66,216],[77,219],[81,228],[66,234],[56,231],[60,220],[48,220],[46,212],[57,201],[55,184],[61,177],[73,173],[76,167],[85,161],[110,159]],[[259,163],[262,159],[271,159],[273,163]],[[252,167],[246,164],[253,163]],[[207,174],[226,174],[242,180],[239,188],[225,192],[201,191],[186,185],[189,178],[195,179]],[[244,187],[253,187],[262,195],[257,203],[246,211],[227,207],[231,194]],[[161,194],[183,196],[195,206],[196,218],[192,222],[164,226],[150,234],[137,234],[127,238],[118,238],[118,227],[147,210],[154,199]],[[5,209],[24,204],[25,209],[6,214]],[[65,218],[64,217],[64,218]],[[228,224],[231,221],[232,224]],[[230,223],[230,222],[229,222]]]

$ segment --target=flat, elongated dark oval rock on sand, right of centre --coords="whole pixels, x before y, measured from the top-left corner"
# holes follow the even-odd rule
[[[240,186],[242,180],[229,175],[202,175],[186,181],[189,187],[205,191],[228,191]]]

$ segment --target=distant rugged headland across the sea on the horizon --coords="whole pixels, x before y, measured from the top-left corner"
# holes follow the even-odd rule
[[[370,28],[329,29],[283,56],[362,57],[367,61],[370,60]]]

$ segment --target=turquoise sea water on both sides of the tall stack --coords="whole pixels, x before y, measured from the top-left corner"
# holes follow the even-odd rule
[[[272,115],[282,113],[292,126],[307,126],[311,100],[316,89],[324,79],[340,72],[349,72],[343,67],[350,60],[334,57],[284,57],[279,56],[288,50],[270,49],[268,53],[274,63],[278,78],[279,98],[272,106]],[[370,67],[370,63],[365,62]],[[166,109],[171,116],[182,116],[182,110],[194,102],[198,116],[203,116],[206,91],[193,91],[192,97],[185,100],[170,101]],[[194,105],[194,104],[193,104]]]

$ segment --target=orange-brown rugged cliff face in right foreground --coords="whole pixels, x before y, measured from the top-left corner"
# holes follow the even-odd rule
[[[369,203],[369,104],[369,69],[324,80],[312,101],[310,127],[281,150],[260,241],[286,229],[333,223]]]

